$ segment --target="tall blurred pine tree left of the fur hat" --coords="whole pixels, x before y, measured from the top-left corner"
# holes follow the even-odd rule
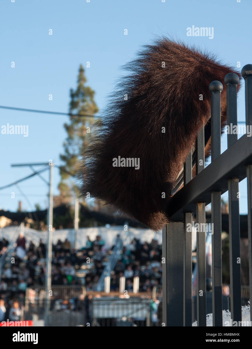
[[[89,86],[85,86],[85,83],[84,68],[80,65],[77,88],[75,91],[70,89],[70,123],[64,124],[68,136],[63,143],[64,154],[60,155],[64,165],[60,168],[61,181],[58,186],[62,201],[69,200],[74,193],[78,194],[76,178],[73,176],[78,173],[81,154],[85,151],[90,136],[89,127],[94,121],[93,114],[98,112],[94,102],[95,92]],[[78,116],[74,116],[76,114]],[[85,115],[91,115],[91,117]]]

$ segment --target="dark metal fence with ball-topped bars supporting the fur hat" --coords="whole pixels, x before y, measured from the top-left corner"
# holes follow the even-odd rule
[[[252,65],[242,69],[245,80],[246,126],[252,125]],[[224,79],[227,87],[227,125],[237,125],[237,74]],[[239,181],[247,178],[250,299],[252,298],[252,139],[228,133],[228,149],[221,154],[222,83],[213,81],[211,91],[211,164],[204,164],[204,126],[195,144],[196,176],[192,179],[192,151],[184,164],[184,187],[172,198],[168,216],[173,222],[163,229],[163,324],[192,326],[192,236],[187,231],[196,213],[197,320],[206,326],[205,206],[212,204],[212,312],[213,326],[222,326],[221,195],[229,196],[230,308],[233,321],[242,320]],[[202,229],[203,230],[202,230]],[[251,314],[252,320],[252,314]]]

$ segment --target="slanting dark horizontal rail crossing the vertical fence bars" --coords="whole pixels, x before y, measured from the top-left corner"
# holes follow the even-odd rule
[[[211,202],[211,192],[228,191],[228,179],[246,178],[249,164],[252,164],[252,137],[245,134],[171,198],[167,215],[174,221],[183,221],[183,213],[196,212],[197,202],[206,205]]]

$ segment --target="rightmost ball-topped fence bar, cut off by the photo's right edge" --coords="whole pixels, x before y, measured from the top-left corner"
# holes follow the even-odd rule
[[[252,64],[247,64],[242,68],[242,76],[245,80],[245,110],[246,126],[252,125]],[[249,237],[249,285],[250,300],[252,300],[252,165],[247,166],[247,218]],[[252,321],[252,311],[250,311]]]

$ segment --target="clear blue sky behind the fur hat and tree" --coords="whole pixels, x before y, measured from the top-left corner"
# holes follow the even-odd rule
[[[79,65],[96,91],[100,109],[122,71],[120,66],[135,57],[140,46],[155,35],[172,34],[188,43],[215,52],[224,63],[241,68],[251,63],[251,0],[2,0],[0,4],[0,105],[68,112],[69,89],[76,87]],[[213,27],[214,38],[188,37],[186,28]],[[49,29],[53,35],[48,35]],[[128,35],[124,35],[128,29]],[[15,62],[15,68],[11,62]],[[244,87],[244,84],[243,84]],[[48,95],[53,95],[49,101]],[[238,120],[245,120],[244,88],[238,98]],[[28,125],[29,136],[0,134],[3,186],[31,173],[11,168],[12,163],[60,164],[66,138],[67,116],[0,109],[0,125]],[[222,151],[227,140],[222,139]],[[48,178],[48,174],[44,174]],[[54,194],[58,194],[59,171],[54,170]],[[15,186],[0,191],[0,207],[15,211],[35,203],[47,206],[47,187],[33,177],[20,184],[31,207]],[[15,192],[15,199],[11,198]],[[240,185],[240,212],[246,213],[246,183]],[[227,197],[227,195],[225,196]]]

